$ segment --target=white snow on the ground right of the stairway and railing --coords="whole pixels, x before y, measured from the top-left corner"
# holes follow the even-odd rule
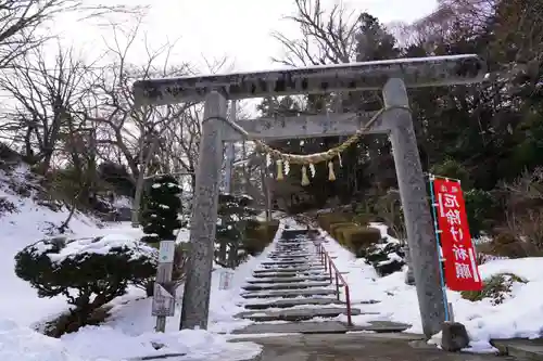
[[[396,241],[387,234],[387,227],[370,224],[379,229],[383,237]],[[386,320],[412,324],[406,332],[421,333],[420,313],[415,286],[406,285],[404,272],[379,278],[374,268],[363,259],[339,245],[326,232],[323,235],[329,241],[325,248],[340,272],[349,271],[344,278],[351,288],[353,307],[362,311],[379,312],[378,315],[355,315],[355,324],[366,324],[367,321]],[[492,306],[490,300],[469,301],[463,299],[458,292],[447,291],[447,299],[453,304],[455,321],[464,323],[471,338],[471,351],[492,351],[489,344],[492,338],[541,337],[543,334],[543,257],[521,259],[492,260],[480,266],[481,276],[487,279],[493,274],[510,272],[525,278],[527,284],[516,284],[513,297],[502,305]],[[363,300],[375,299],[379,304],[359,305]],[[358,305],[356,305],[358,304]],[[344,318],[344,317],[342,317]]]

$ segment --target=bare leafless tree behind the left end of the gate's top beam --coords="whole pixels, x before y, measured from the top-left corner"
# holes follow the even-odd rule
[[[164,141],[164,132],[190,106],[190,104],[135,106],[131,83],[136,79],[181,76],[190,72],[187,64],[169,66],[169,54],[175,46],[169,41],[153,50],[149,47],[147,38],[143,39],[147,53],[142,65],[129,63],[128,53],[141,36],[140,24],[141,18],[130,28],[112,26],[112,40],[105,42],[113,65],[100,69],[92,80],[96,116],[90,117],[98,124],[100,139],[97,145],[117,147],[130,169],[132,182],[136,184],[132,206],[134,227],[139,224],[146,175],[152,168],[161,141]]]

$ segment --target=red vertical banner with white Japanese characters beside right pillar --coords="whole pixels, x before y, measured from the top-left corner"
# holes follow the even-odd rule
[[[482,280],[469,233],[464,194],[458,181],[432,181],[446,285],[452,291],[480,291]]]

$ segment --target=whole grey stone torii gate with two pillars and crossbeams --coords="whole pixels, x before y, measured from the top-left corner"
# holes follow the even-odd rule
[[[427,337],[441,331],[445,311],[438,248],[406,88],[467,85],[482,81],[484,75],[485,63],[477,55],[452,55],[136,81],[132,91],[139,106],[205,101],[180,326],[207,327],[223,144],[244,137],[226,120],[227,101],[382,90],[388,111],[368,132],[390,137],[422,328]],[[261,118],[237,124],[265,141],[352,134],[371,115]]]

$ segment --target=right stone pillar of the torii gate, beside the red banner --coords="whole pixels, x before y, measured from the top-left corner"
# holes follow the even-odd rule
[[[409,101],[404,81],[397,78],[389,79],[383,87],[382,95],[386,107],[399,106],[384,113],[383,121],[390,126],[390,142],[407,230],[411,256],[408,266],[415,278],[422,328],[425,335],[430,337],[441,331],[441,324],[445,320],[443,313],[445,300],[443,294],[437,292],[440,284],[440,265],[427,202],[427,186],[412,115],[407,111]]]

